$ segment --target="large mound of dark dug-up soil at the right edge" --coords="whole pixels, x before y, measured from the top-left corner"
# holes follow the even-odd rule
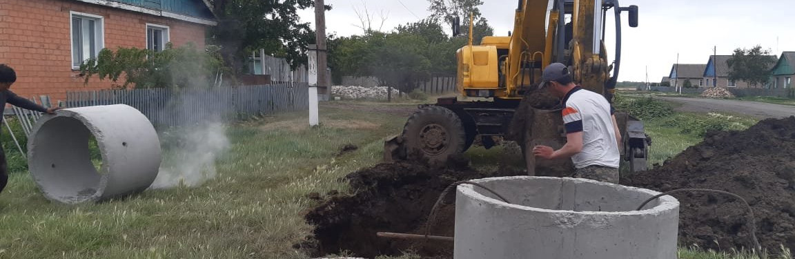
[[[770,252],[795,248],[795,117],[767,119],[744,131],[712,132],[661,167],[621,184],[657,191],[708,188],[746,199],[757,236]],[[731,196],[675,194],[681,202],[679,241],[709,249],[752,248],[747,209]]]

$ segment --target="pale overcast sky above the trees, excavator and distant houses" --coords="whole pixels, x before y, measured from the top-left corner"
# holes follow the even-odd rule
[[[507,36],[513,29],[516,0],[483,0],[483,16],[494,27],[497,36]],[[626,25],[623,17],[622,68],[619,81],[659,82],[670,72],[672,64],[706,64],[717,46],[718,55],[731,55],[735,48],[761,44],[776,55],[795,51],[795,0],[622,0],[622,6],[637,5],[640,9],[638,28]],[[326,14],[328,33],[339,36],[361,34],[355,10],[374,14],[374,27],[386,22],[382,31],[396,25],[428,17],[428,0],[326,0],[333,9]],[[314,24],[312,10],[302,10],[304,21]],[[608,32],[615,30],[612,19]],[[607,38],[611,39],[608,33]],[[608,52],[615,52],[608,41]],[[450,53],[450,55],[454,55]]]

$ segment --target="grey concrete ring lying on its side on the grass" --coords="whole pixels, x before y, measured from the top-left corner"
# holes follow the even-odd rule
[[[131,106],[88,106],[42,116],[28,141],[28,168],[39,189],[60,203],[101,201],[144,191],[157,177],[160,140]],[[95,137],[102,166],[91,161]]]

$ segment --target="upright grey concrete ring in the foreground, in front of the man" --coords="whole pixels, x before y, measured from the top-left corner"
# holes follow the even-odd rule
[[[514,176],[456,192],[456,259],[677,258],[679,202],[595,180]]]

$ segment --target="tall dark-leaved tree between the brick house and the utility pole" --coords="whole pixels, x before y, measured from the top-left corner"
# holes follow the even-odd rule
[[[219,19],[211,30],[211,41],[223,47],[221,54],[235,72],[242,72],[246,57],[259,48],[272,56],[285,56],[293,68],[307,63],[306,48],[315,36],[297,10],[312,7],[314,1],[207,1]]]

